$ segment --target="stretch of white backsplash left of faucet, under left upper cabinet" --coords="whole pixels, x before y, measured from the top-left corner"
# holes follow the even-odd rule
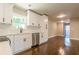
[[[0,25],[0,36],[16,33],[19,33],[19,29],[16,29],[12,25]]]

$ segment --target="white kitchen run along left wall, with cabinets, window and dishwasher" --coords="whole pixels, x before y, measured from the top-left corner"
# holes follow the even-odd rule
[[[15,3],[0,3],[1,54],[17,54],[48,41],[48,16]],[[8,38],[8,40],[6,40]],[[4,40],[2,40],[4,39]],[[7,52],[4,52],[9,50]]]

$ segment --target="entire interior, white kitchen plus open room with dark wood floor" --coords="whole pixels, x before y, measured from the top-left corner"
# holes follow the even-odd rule
[[[78,55],[79,4],[0,3],[0,55]]]

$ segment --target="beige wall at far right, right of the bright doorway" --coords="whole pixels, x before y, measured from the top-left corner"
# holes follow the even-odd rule
[[[71,19],[70,33],[71,39],[79,39],[79,19]]]

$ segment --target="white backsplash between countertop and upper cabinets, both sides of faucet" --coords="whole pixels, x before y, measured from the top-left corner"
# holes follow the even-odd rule
[[[38,27],[28,26],[26,29],[23,29],[23,33],[32,33],[39,32]],[[20,29],[16,29],[12,25],[0,25],[0,36],[9,35],[9,34],[20,34]]]

